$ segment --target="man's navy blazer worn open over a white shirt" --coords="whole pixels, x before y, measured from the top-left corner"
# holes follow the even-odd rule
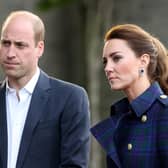
[[[7,167],[5,84],[0,89],[0,168]],[[40,72],[16,168],[86,168],[89,105],[85,90]]]

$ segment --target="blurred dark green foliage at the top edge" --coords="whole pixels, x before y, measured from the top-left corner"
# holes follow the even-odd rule
[[[77,0],[40,0],[37,3],[37,8],[42,11],[49,10],[53,7],[63,7]]]

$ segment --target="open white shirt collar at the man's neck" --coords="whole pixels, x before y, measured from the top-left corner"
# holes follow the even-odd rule
[[[39,75],[40,75],[40,69],[37,68],[36,73],[33,75],[30,81],[22,89],[25,89],[28,93],[32,94],[36,86],[36,83],[38,81]],[[6,89],[10,92],[14,91],[13,88],[9,87],[9,84],[7,81],[6,81]]]

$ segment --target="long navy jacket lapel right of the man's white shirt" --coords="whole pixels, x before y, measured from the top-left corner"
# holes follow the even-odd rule
[[[49,89],[49,79],[43,72],[41,72],[38,83],[32,95],[29,111],[27,114],[27,119],[22,134],[22,140],[20,144],[16,168],[20,168],[23,164],[26,152],[31,142],[33,130],[38,124],[43,109],[47,103],[48,89]]]

